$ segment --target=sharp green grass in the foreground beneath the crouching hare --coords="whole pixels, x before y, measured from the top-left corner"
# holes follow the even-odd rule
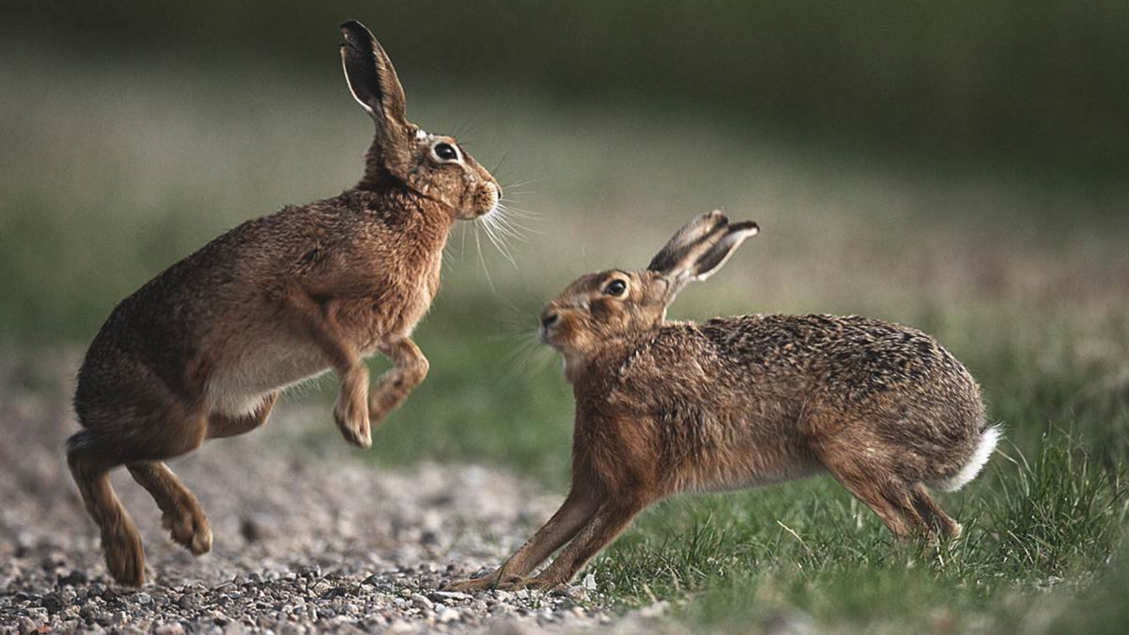
[[[1124,472],[1095,469],[1061,434],[1041,447],[1030,464],[997,461],[968,493],[944,497],[965,531],[928,553],[894,543],[824,478],[667,503],[589,571],[629,603],[691,597],[677,612],[715,626],[788,608],[894,632],[935,614],[962,629],[1008,620],[1015,602],[1030,608],[1052,586],[1084,588],[1123,538]]]

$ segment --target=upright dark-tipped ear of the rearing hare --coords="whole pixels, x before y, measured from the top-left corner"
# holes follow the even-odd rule
[[[404,88],[392,60],[359,21],[342,23],[341,34],[345,38],[341,44],[345,81],[357,103],[376,121],[384,154],[406,151],[412,127],[408,123]]]

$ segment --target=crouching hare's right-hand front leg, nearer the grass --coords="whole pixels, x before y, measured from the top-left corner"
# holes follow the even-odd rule
[[[647,507],[642,498],[609,496],[599,510],[551,565],[535,577],[504,580],[498,589],[553,589],[564,584],[584,568],[588,560],[627,529],[631,519]]]

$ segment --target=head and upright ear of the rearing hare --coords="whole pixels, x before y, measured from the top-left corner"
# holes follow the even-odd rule
[[[495,177],[454,137],[428,133],[408,121],[404,89],[392,60],[362,24],[349,20],[341,33],[349,90],[376,122],[360,186],[376,188],[391,177],[443,203],[456,218],[492,211],[501,198]]]

